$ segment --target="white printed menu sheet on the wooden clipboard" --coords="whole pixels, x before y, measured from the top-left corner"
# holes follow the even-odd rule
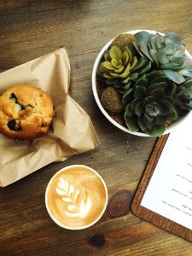
[[[172,131],[141,205],[192,230],[192,119]]]

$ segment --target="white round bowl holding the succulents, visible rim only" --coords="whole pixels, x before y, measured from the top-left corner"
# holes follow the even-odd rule
[[[133,30],[133,31],[129,31],[129,32],[125,32],[125,33],[130,33],[130,34],[136,34],[137,32],[141,32],[143,30]],[[156,33],[155,31],[152,30],[145,30],[146,32],[149,32],[151,34]],[[165,35],[161,32],[159,32],[161,35]],[[113,38],[114,39],[114,38]],[[113,39],[111,39],[107,44],[104,45],[104,47],[102,48],[102,50],[99,52],[99,54],[96,57],[96,61],[94,63],[93,66],[93,70],[92,70],[92,90],[93,90],[93,95],[95,97],[96,100],[96,104],[97,106],[100,108],[100,110],[102,111],[102,113],[104,114],[104,116],[116,127],[118,127],[120,130],[131,133],[133,135],[137,135],[137,136],[141,136],[141,137],[151,137],[150,135],[143,133],[143,132],[138,132],[138,131],[130,131],[128,128],[126,128],[123,125],[119,125],[119,123],[117,123],[114,119],[112,119],[110,117],[110,115],[108,114],[108,112],[105,110],[105,108],[102,107],[102,103],[100,102],[100,98],[97,94],[97,90],[96,90],[96,72],[97,69],[101,63],[102,60],[102,56],[103,53],[109,48],[110,44],[113,42]],[[189,52],[186,50],[186,55],[189,55]],[[190,58],[191,55],[189,55]],[[182,117],[180,117],[179,119],[177,119],[172,125],[170,125],[169,127],[166,128],[166,131],[163,133],[163,135],[170,133],[171,131],[175,130],[175,128],[177,128],[177,126],[180,124],[183,124],[184,120],[187,120],[190,118],[190,116],[192,115],[192,111],[190,111],[189,113],[187,113],[186,115],[183,115]]]

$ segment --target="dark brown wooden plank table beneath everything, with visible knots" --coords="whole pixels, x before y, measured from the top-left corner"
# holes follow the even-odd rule
[[[191,0],[0,2],[0,71],[66,46],[71,94],[90,114],[101,143],[0,189],[0,255],[192,255],[189,241],[131,213],[132,197],[156,139],[119,131],[100,113],[91,91],[96,55],[120,32],[178,32],[192,52],[191,13]],[[96,169],[108,186],[107,211],[87,230],[62,230],[44,206],[50,177],[71,164]]]

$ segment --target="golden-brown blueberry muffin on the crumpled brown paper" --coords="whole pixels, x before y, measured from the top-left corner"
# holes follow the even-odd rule
[[[0,131],[14,139],[31,140],[49,130],[53,102],[44,90],[32,85],[15,85],[0,96]]]

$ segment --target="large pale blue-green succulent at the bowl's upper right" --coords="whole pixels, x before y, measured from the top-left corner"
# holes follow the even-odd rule
[[[138,32],[133,42],[140,55],[148,57],[157,69],[177,84],[185,81],[184,77],[192,77],[192,61],[185,52],[183,38],[175,32],[150,34]]]

